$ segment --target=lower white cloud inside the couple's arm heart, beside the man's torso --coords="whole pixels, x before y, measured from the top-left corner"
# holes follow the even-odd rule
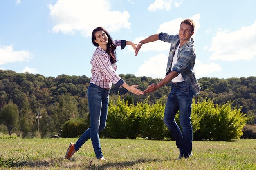
[[[142,64],[135,76],[146,76],[152,78],[164,78],[168,57],[164,54],[151,57]]]

